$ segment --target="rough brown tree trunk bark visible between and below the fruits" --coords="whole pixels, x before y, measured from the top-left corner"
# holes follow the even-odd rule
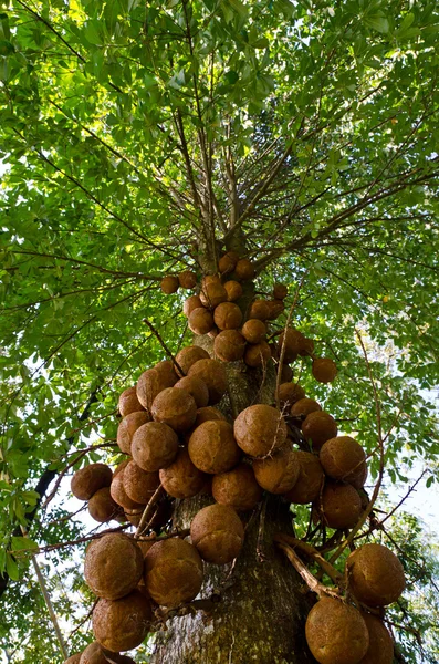
[[[202,341],[201,341],[202,340]],[[209,347],[211,340],[198,338]],[[209,349],[210,350],[210,349]],[[274,371],[227,364],[231,416],[251,403],[272,403]],[[222,406],[222,404],[221,404]],[[234,413],[233,413],[234,412]],[[233,413],[233,415],[232,415]],[[236,415],[234,415],[236,416]],[[196,496],[179,502],[174,522],[188,528],[213,499]],[[269,495],[260,510],[243,516],[245,542],[234,568],[205,563],[200,596],[213,598],[212,611],[174,618],[156,635],[154,664],[311,664],[304,634],[313,598],[291,563],[274,547],[278,531],[292,533],[289,505]]]

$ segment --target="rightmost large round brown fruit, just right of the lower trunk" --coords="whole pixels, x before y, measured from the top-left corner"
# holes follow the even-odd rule
[[[351,592],[367,606],[393,604],[406,587],[401,563],[383,544],[356,549],[348,557],[346,569]]]

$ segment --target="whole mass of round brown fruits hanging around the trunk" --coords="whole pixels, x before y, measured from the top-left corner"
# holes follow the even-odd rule
[[[334,362],[316,357],[313,341],[293,328],[285,329],[275,343],[266,342],[268,321],[284,310],[288,293],[281,284],[274,288],[273,300],[250,304],[242,325],[243,315],[234,301],[242,293],[239,280],[251,279],[253,267],[232,252],[220,259],[219,267],[221,274],[205,277],[199,295],[191,295],[184,305],[192,332],[213,336],[218,359],[199,345],[190,345],[174,360],[142,373],[137,384],[125,390],[118,401],[123,419],[117,444],[127,459],[114,474],[103,464],[92,464],[72,479],[73,494],[88,500],[90,513],[96,520],[116,518],[135,526],[161,487],[163,497],[148,515],[147,531],[169,520],[175,498],[207,494],[215,499],[195,516],[190,542],[180,537],[142,539],[142,525],[134,536],[112,532],[90,544],[85,580],[98,598],[93,611],[97,643],[92,645],[96,652],[100,646],[104,649],[98,651],[104,658],[96,662],[117,662],[108,660],[107,652],[139,645],[154,629],[157,605],[174,609],[194,600],[201,589],[203,561],[226,564],[237,558],[244,540],[240,515],[254,509],[264,490],[293,504],[312,504],[314,519],[335,529],[355,526],[364,509],[358,494],[367,477],[362,446],[348,436],[337,436],[335,419],[292,382],[289,366],[299,355],[309,355],[314,377],[328,383],[337,373]],[[229,276],[231,279],[224,281]],[[166,277],[161,289],[175,292],[179,286],[194,288],[196,282],[192,272],[184,272],[178,278]],[[228,390],[223,363],[243,360],[257,367],[281,359],[283,364],[278,371],[282,380],[272,405],[251,405],[229,422],[216,407]],[[357,553],[364,550],[367,546]],[[362,599],[360,583],[355,578],[365,574],[369,581],[372,568],[364,566],[360,556],[351,559],[353,594],[368,606],[381,605]],[[378,587],[381,573],[379,568]],[[318,606],[328,601],[321,600],[310,613],[306,636],[318,662],[342,664],[337,654],[327,658],[331,651],[322,646],[322,634],[331,636],[332,627],[324,618],[331,612],[322,614]],[[331,601],[337,604],[337,611],[341,604],[351,613],[357,612],[351,604]],[[94,663],[84,658],[85,653],[77,661]],[[348,662],[357,664],[359,660]]]

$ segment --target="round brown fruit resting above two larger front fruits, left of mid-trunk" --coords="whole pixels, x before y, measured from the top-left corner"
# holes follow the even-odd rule
[[[192,426],[197,417],[197,404],[186,390],[168,387],[156,396],[150,412],[155,422],[182,433]]]

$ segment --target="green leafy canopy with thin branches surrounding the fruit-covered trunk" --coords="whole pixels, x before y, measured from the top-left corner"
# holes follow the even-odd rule
[[[211,220],[222,247],[245,240],[258,290],[281,280],[291,305],[305,277],[293,322],[339,376],[320,386],[304,359],[300,381],[358,435],[372,478],[377,421],[355,330],[381,404],[386,479],[405,483],[404,465],[422,459],[436,481],[437,414],[420,390],[438,374],[438,31],[431,0],[0,2],[0,569],[11,579],[28,579],[12,531],[42,473],[91,445],[88,459],[114,458],[98,445],[115,436],[117,395],[164,356],[143,320],[173,352],[189,341],[182,295],[158,282],[201,272]],[[67,513],[42,513],[31,538],[79,537],[80,521],[48,526]],[[53,662],[41,598],[23,583],[3,601],[3,629],[17,623],[11,644],[34,630],[28,661]]]

